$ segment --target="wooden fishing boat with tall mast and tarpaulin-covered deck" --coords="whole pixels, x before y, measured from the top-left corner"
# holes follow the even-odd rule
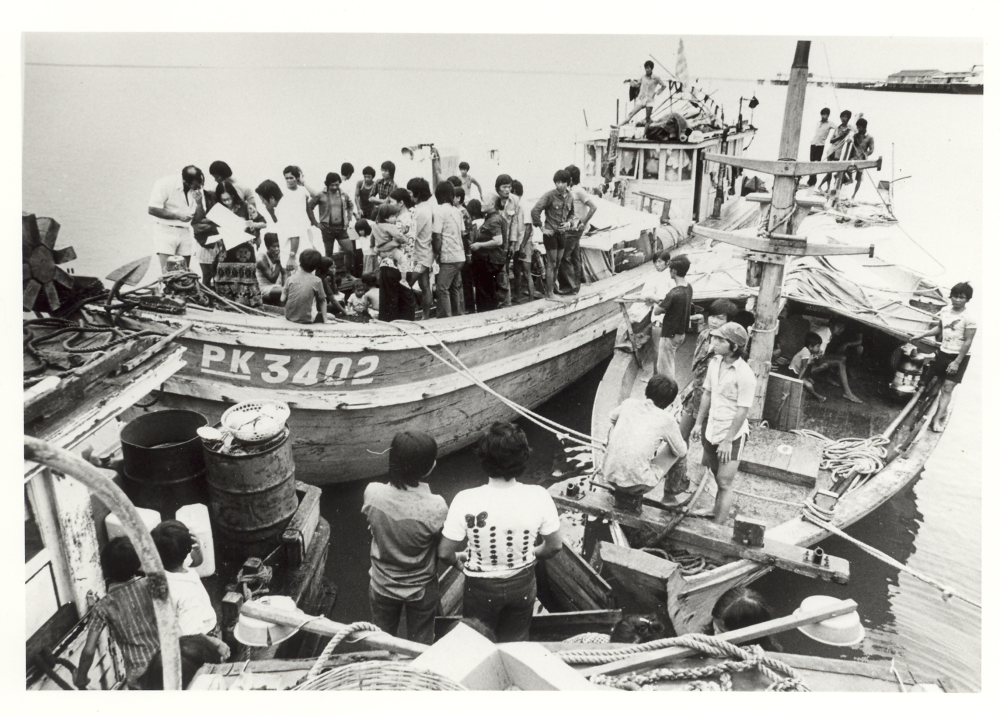
[[[800,114],[805,90],[804,58],[797,53],[796,60],[782,156],[794,156],[798,143],[798,121],[793,119],[791,138],[787,124],[788,117],[795,117],[796,111]],[[773,196],[747,197],[761,202],[761,216],[753,223],[762,227],[763,236],[756,228],[724,231],[702,224],[678,248],[678,253],[692,260],[689,277],[696,304],[707,307],[723,297],[749,299],[756,311],[751,366],[758,375],[758,395],[735,482],[738,516],[724,524],[685,517],[688,509],[711,509],[714,502],[707,491],[694,490],[705,482],[699,444],[689,446],[688,476],[695,494],[687,495],[691,499],[687,505],[670,498],[664,502],[662,484],[647,495],[649,499],[637,512],[617,507],[606,487],[588,479],[581,484],[571,478],[550,488],[561,508],[611,521],[610,536],[583,540],[584,544],[605,540],[597,549],[585,551],[584,557],[603,565],[603,574],[613,576],[619,587],[633,592],[650,608],[660,607],[678,634],[705,630],[712,607],[723,593],[775,567],[846,582],[849,565],[844,560],[808,548],[831,534],[824,526],[839,529],[853,524],[917,479],[941,435],[928,429],[937,409],[935,382],[911,390],[908,401],[890,389],[890,365],[899,346],[926,330],[933,312],[945,303],[933,282],[906,267],[913,252],[900,256],[892,238],[891,212],[879,217],[870,207],[860,207],[863,211],[851,214],[848,202],[839,202],[836,194],[831,202],[804,190],[796,193],[797,176],[811,173],[804,171],[809,165],[719,155],[707,159],[776,175]],[[856,164],[859,168],[876,165],[875,161]],[[830,163],[829,170],[846,166]],[[776,227],[778,212],[771,209],[779,206],[789,223]],[[873,256],[882,255],[883,249],[889,258]],[[809,322],[805,330],[828,325],[837,317],[853,322],[863,336],[865,352],[863,361],[852,361],[850,381],[863,403],[829,395],[829,389],[829,399],[819,403],[803,397],[801,381],[769,375],[772,346],[788,348],[780,340],[775,343],[775,320],[781,306],[789,315],[804,316]],[[648,316],[642,320],[642,312],[633,311],[622,327],[623,338],[595,400],[591,431],[595,439],[606,438],[608,415],[622,400],[644,395],[655,364],[648,323]],[[693,343],[694,335],[689,335],[678,353],[681,386],[691,378],[687,366]],[[792,352],[801,346],[801,342],[792,346]],[[818,388],[823,391],[822,384]],[[697,411],[697,396],[691,391],[688,385],[673,406],[685,435]],[[875,450],[883,454],[877,467],[864,475],[859,470],[834,474],[824,462],[824,449],[829,447],[824,438],[881,438]],[[595,454],[596,465],[602,457]],[[710,478],[707,482],[713,484]],[[592,528],[600,524],[600,520],[587,523]],[[629,534],[619,525],[631,528]]]

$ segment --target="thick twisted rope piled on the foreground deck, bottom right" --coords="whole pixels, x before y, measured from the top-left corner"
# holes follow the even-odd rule
[[[685,634],[670,639],[657,639],[645,644],[630,644],[620,649],[574,649],[572,651],[556,652],[567,664],[608,664],[623,658],[646,651],[655,651],[672,646],[682,646],[695,649],[716,658],[732,657],[734,660],[720,664],[690,668],[690,669],[653,669],[643,673],[608,676],[596,674],[591,677],[594,684],[612,686],[627,691],[638,691],[647,684],[657,681],[677,681],[680,679],[704,679],[718,676],[721,690],[732,690],[730,672],[741,672],[756,668],[771,679],[768,691],[808,691],[802,675],[784,662],[767,656],[759,646],[740,647],[728,641],[707,634]],[[692,684],[692,690],[712,690],[715,685],[707,683]]]

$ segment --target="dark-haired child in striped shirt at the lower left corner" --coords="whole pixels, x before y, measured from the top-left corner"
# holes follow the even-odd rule
[[[101,570],[108,591],[90,612],[87,642],[73,683],[78,689],[90,683],[90,667],[101,632],[107,627],[125,662],[125,683],[137,689],[160,649],[150,582],[140,571],[139,557],[127,537],[116,537],[101,550]]]

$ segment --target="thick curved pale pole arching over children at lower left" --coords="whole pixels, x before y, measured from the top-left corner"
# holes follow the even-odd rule
[[[170,602],[167,576],[163,571],[160,553],[153,538],[139,517],[132,501],[118,485],[109,479],[114,473],[94,467],[79,455],[56,447],[44,440],[24,436],[24,459],[32,460],[68,477],[74,477],[107,505],[121,522],[125,534],[132,541],[146,579],[150,581],[156,626],[160,633],[160,655],[163,660],[163,688],[179,691],[181,688],[180,625],[177,612]]]

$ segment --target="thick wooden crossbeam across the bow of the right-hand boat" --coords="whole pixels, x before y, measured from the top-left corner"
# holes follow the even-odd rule
[[[629,527],[662,530],[671,517],[667,512],[646,505],[642,506],[639,514],[615,509],[613,498],[603,490],[584,492],[580,499],[574,500],[566,497],[564,483],[556,483],[549,488],[549,494],[558,507],[615,520]],[[746,547],[733,542],[731,529],[709,520],[689,517],[676,528],[672,541],[684,543],[689,551],[695,553],[708,550],[840,584],[846,584],[850,578],[850,565],[845,559],[827,555],[826,563],[812,564],[806,561],[810,550],[773,538],[765,538],[763,547]]]

